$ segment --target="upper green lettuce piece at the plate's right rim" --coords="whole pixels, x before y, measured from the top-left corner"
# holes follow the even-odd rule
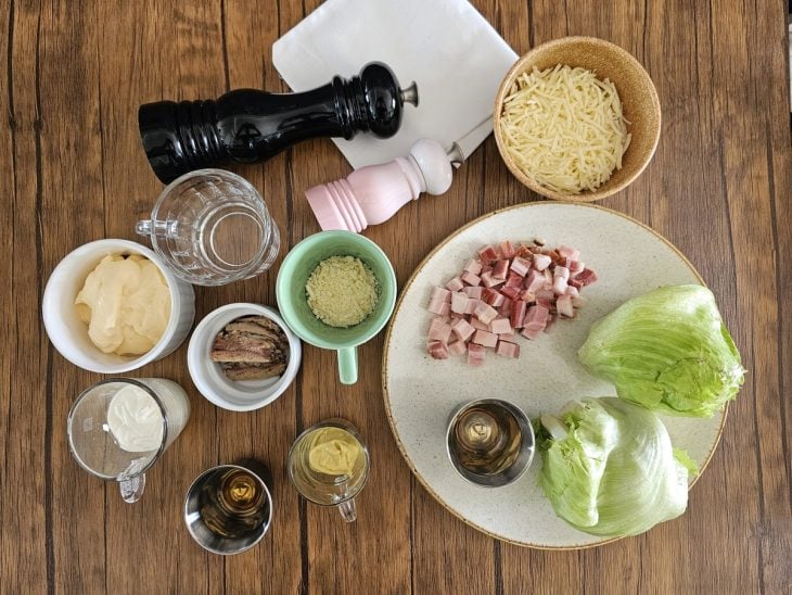
[[[622,398],[689,417],[721,410],[744,375],[715,298],[702,286],[664,287],[625,302],[591,326],[577,355]]]

